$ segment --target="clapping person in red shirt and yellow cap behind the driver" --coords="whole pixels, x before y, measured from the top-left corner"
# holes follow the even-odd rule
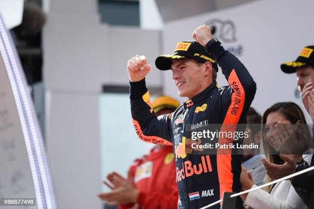
[[[152,102],[157,116],[173,112],[179,102],[160,96]],[[112,189],[99,197],[108,205],[126,208],[176,208],[176,186],[173,148],[169,145],[154,146],[147,156],[136,159],[129,168],[128,178],[112,172],[104,183]]]

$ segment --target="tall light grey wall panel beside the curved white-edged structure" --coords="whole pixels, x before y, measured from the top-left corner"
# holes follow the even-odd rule
[[[59,208],[101,208],[98,94],[46,91],[46,143]]]

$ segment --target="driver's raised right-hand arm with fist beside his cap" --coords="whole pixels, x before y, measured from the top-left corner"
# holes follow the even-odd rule
[[[251,105],[255,93],[256,83],[252,79],[250,73],[246,67],[239,61],[237,57],[231,54],[228,50],[225,50],[221,43],[212,37],[210,28],[206,25],[198,27],[192,34],[192,37],[198,41],[205,49],[211,53],[215,60],[218,62],[225,75],[230,87],[225,90],[224,96],[230,99],[227,103],[230,104],[230,111],[228,115],[234,115],[237,117],[232,121],[226,121],[228,123],[238,123],[237,119],[246,118],[246,112]],[[226,99],[228,99],[226,98]],[[233,109],[231,107],[233,103]],[[233,111],[232,111],[232,110]],[[244,114],[243,114],[244,113]]]

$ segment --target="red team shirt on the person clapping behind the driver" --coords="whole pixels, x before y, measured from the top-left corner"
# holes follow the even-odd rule
[[[178,187],[172,146],[152,148],[148,156],[134,161],[129,175],[140,191],[138,202],[119,205],[119,209],[177,208]]]

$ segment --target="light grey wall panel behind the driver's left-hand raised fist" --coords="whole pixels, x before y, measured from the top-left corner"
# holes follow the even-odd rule
[[[109,27],[108,30],[109,61],[105,65],[107,83],[115,85],[129,85],[129,76],[126,70],[128,60],[136,54],[145,55],[147,61],[154,63],[156,56],[161,52],[161,32],[142,30],[138,27]],[[147,75],[149,86],[161,86],[161,72],[155,65]]]

